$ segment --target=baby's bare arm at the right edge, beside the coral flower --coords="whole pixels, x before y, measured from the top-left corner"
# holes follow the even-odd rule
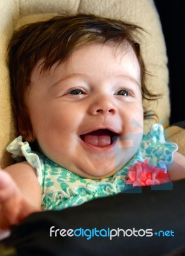
[[[170,180],[185,179],[185,156],[179,152],[174,153],[174,163],[172,170],[168,170]]]

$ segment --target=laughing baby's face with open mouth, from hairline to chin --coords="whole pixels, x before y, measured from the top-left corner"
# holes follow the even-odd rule
[[[49,72],[40,74],[40,64],[31,74],[28,106],[41,152],[82,177],[110,177],[142,140],[140,67],[133,49],[87,45]]]

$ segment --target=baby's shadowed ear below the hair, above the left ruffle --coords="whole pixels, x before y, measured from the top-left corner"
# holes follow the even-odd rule
[[[36,141],[36,137],[34,136],[32,127],[27,129],[27,125],[24,124],[24,121],[22,120],[22,118],[20,117],[18,118],[17,124],[18,124],[18,133],[22,136],[24,140],[26,140],[27,142]]]

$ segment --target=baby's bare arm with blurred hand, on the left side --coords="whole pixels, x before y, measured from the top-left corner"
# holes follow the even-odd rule
[[[17,163],[0,171],[0,228],[8,228],[41,211],[41,188],[35,170]]]

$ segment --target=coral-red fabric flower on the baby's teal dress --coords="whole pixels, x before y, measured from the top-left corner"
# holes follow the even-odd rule
[[[149,166],[147,160],[144,162],[137,161],[134,166],[130,166],[128,177],[126,184],[133,184],[133,187],[158,185],[170,181],[165,169]]]

